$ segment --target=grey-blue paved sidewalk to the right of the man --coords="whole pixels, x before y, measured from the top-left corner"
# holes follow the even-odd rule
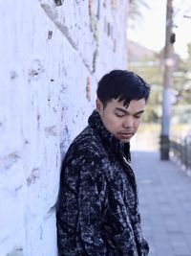
[[[191,256],[191,177],[159,153],[133,151],[139,210],[150,256]]]

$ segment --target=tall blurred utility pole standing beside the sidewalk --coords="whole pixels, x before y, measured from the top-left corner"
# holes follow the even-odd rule
[[[163,75],[163,95],[162,95],[162,117],[160,134],[160,159],[169,159],[170,140],[170,114],[171,114],[171,88],[173,85],[174,69],[174,48],[175,34],[173,28],[173,0],[166,3],[166,35],[164,47],[164,75]]]

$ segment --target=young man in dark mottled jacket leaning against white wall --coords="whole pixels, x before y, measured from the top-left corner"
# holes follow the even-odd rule
[[[57,241],[63,256],[143,256],[129,141],[150,87],[133,72],[114,70],[97,87],[96,110],[63,161]]]

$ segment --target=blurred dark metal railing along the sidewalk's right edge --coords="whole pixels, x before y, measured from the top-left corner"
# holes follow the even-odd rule
[[[185,138],[172,137],[170,139],[170,151],[184,170],[191,174],[191,136]]]

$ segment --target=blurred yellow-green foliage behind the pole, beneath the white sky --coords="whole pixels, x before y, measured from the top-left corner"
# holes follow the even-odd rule
[[[128,69],[137,73],[151,85],[151,95],[146,107],[144,122],[159,123],[162,105],[162,84],[163,84],[163,65],[162,52],[154,54],[152,58],[140,59],[137,62],[129,62]],[[173,118],[180,123],[186,122],[181,120],[181,116],[187,113],[190,115],[189,105],[191,105],[191,42],[188,44],[188,58],[180,59],[175,56],[176,65],[173,81],[173,93],[175,96],[175,105],[180,111],[172,112]],[[182,107],[184,105],[184,107]],[[177,109],[176,108],[176,109]],[[188,122],[188,120],[187,120]]]

